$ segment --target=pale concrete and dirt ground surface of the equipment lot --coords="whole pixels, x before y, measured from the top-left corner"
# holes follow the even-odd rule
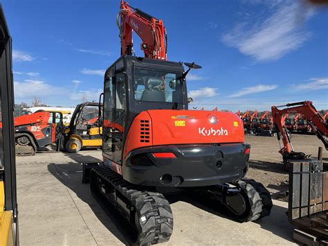
[[[317,156],[320,140],[313,135],[293,134],[296,151]],[[250,143],[248,177],[262,182],[272,194],[286,190],[288,179],[277,152],[276,137],[246,137]],[[19,238],[21,245],[120,245],[127,244],[120,233],[116,212],[100,207],[89,184],[82,184],[82,161],[100,161],[100,150],[40,153],[17,157]],[[327,152],[323,152],[327,161]],[[273,195],[271,216],[257,222],[239,223],[179,195],[171,204],[174,232],[166,245],[291,245],[287,202]],[[183,200],[183,201],[181,201]],[[115,222],[113,222],[115,221]],[[232,241],[233,239],[233,241]],[[229,243],[227,243],[229,242]]]

